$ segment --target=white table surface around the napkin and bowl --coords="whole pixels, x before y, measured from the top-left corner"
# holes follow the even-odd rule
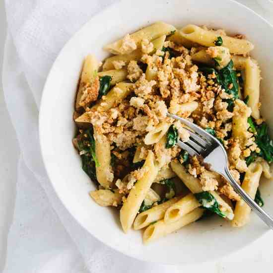
[[[264,0],[266,1],[266,0]],[[4,14],[4,1],[0,0],[0,67],[2,67],[2,54],[4,40],[6,35],[6,22]],[[257,10],[256,0],[240,0],[254,10]],[[273,14],[264,13],[273,23]],[[16,183],[16,165],[19,157],[18,143],[12,128],[2,92],[0,78],[0,124],[1,124],[1,141],[0,141],[0,217],[5,215],[5,208],[13,206],[8,199],[7,192],[15,192]],[[12,221],[12,215],[9,215],[9,221],[3,222],[0,218],[0,272],[4,266],[7,230]],[[268,232],[262,238],[251,245],[239,250],[232,255],[226,256],[221,260],[204,263],[202,265],[188,265],[181,267],[181,273],[271,273],[273,272],[273,232]],[[182,254],[183,255],[183,254]],[[30,257],[31,259],[31,257]],[[22,269],[22,273],[24,269]],[[56,270],[56,273],[58,269]],[[54,272],[52,272],[54,273]]]

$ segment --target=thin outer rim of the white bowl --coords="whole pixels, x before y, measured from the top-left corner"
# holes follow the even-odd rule
[[[170,0],[171,1],[171,0]],[[208,0],[209,1],[209,0]],[[240,3],[236,0],[225,0],[227,2],[231,2],[231,3],[234,3],[234,4],[237,4],[238,6],[240,6],[241,8],[244,8],[244,9],[247,9],[250,13],[252,13],[253,16],[256,16],[256,17],[259,17],[260,20],[264,21],[266,24],[268,24],[272,30],[273,30],[273,24],[271,24],[267,19],[265,19],[264,17],[262,17],[260,14],[258,14],[256,11],[254,11],[253,9],[251,9],[250,7],[244,5],[243,3]],[[152,262],[152,263],[158,263],[157,261],[151,261],[150,259],[148,258],[145,258],[143,256],[139,256],[139,255],[135,255],[134,253],[126,253],[124,252],[121,248],[117,248],[117,247],[114,247],[113,245],[111,245],[111,243],[109,243],[107,240],[103,240],[103,238],[97,236],[96,234],[94,233],[91,233],[87,227],[76,217],[76,215],[74,215],[70,209],[68,208],[68,205],[66,204],[66,202],[63,200],[62,198],[62,195],[60,192],[58,192],[58,190],[56,189],[55,187],[55,184],[52,182],[52,175],[51,175],[51,171],[49,169],[49,166],[47,165],[47,161],[46,161],[46,156],[45,156],[45,149],[44,149],[44,136],[42,134],[42,128],[43,128],[43,118],[44,118],[44,111],[46,111],[46,108],[47,106],[45,105],[45,97],[46,97],[46,90],[48,89],[47,86],[49,84],[49,81],[51,79],[51,75],[53,74],[54,72],[54,68],[56,67],[56,64],[58,63],[60,57],[62,56],[63,52],[68,48],[69,44],[71,43],[71,41],[73,40],[73,38],[79,33],[82,31],[82,29],[84,29],[88,24],[90,24],[92,21],[95,21],[98,17],[100,17],[103,13],[107,12],[108,10],[114,8],[114,7],[118,7],[118,6],[122,6],[124,3],[126,2],[126,0],[120,0],[120,1],[117,1],[115,3],[112,3],[110,5],[108,5],[107,7],[103,8],[101,11],[99,11],[98,13],[96,13],[94,16],[92,16],[88,21],[86,21],[77,31],[75,31],[72,36],[68,39],[68,41],[64,44],[64,46],[62,47],[61,51],[58,53],[58,56],[56,57],[55,61],[53,62],[49,72],[48,72],[48,75],[47,75],[47,78],[46,78],[46,81],[45,81],[45,84],[44,84],[44,87],[43,87],[43,91],[42,91],[42,97],[41,97],[41,102],[40,102],[40,109],[39,109],[39,143],[40,143],[40,149],[41,149],[41,154],[42,154],[42,161],[43,161],[43,164],[44,164],[44,167],[45,167],[45,170],[46,170],[46,174],[48,175],[48,178],[49,178],[49,181],[54,189],[54,192],[56,193],[56,195],[58,196],[59,200],[61,201],[61,203],[64,205],[64,207],[66,208],[66,210],[68,211],[68,213],[72,216],[72,218],[85,230],[87,231],[88,234],[90,234],[91,236],[93,236],[94,238],[96,238],[98,241],[100,241],[102,244],[105,244],[106,246],[110,247],[111,249],[121,253],[121,254],[124,254],[125,256],[127,257],[130,257],[130,258],[135,258],[136,260],[138,261],[145,261],[145,262]],[[265,236],[268,232],[270,231],[270,229],[267,229],[265,230],[263,233],[260,233],[259,236],[257,236],[256,238],[248,241],[247,244],[245,244],[244,246],[241,246],[240,248],[236,249],[234,252],[232,253],[236,253],[238,252],[239,250],[245,248],[246,246],[254,243],[256,240],[260,239],[262,236]],[[143,246],[144,247],[144,246]],[[230,253],[231,254],[231,253]],[[230,254],[225,254],[223,255],[222,257],[225,257],[226,255],[230,255]],[[211,258],[211,259],[208,259],[206,262],[210,261],[214,261],[215,259],[219,259],[219,257],[216,257],[216,258]],[[173,263],[173,262],[160,262],[162,265],[179,265],[179,262],[177,263]],[[201,262],[203,263],[203,262]],[[183,263],[184,265],[185,264],[193,264],[193,262],[186,262],[186,263]],[[181,265],[181,264],[180,264]]]

